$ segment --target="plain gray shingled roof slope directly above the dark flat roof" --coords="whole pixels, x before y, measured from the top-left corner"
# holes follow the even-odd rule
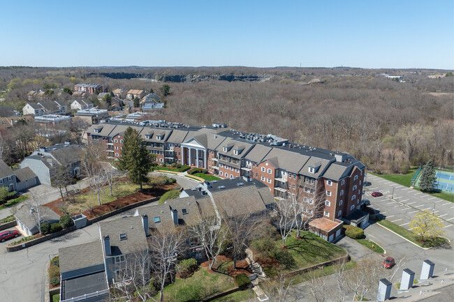
[[[60,272],[103,264],[103,246],[98,239],[90,243],[59,248]]]

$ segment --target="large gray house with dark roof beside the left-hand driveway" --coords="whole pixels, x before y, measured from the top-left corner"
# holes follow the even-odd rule
[[[52,177],[61,165],[73,176],[80,174],[80,158],[84,149],[84,146],[71,142],[43,146],[24,158],[20,167],[29,167],[38,176],[40,183],[50,185]]]

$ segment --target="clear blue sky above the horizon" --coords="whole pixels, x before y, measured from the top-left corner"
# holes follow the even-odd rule
[[[454,1],[0,1],[0,66],[454,68]]]

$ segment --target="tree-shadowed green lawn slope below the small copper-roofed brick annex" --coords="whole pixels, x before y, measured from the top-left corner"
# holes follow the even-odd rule
[[[310,232],[301,232],[303,239],[295,239],[296,232],[293,231],[291,236],[286,240],[288,252],[295,259],[295,266],[286,269],[293,271],[295,269],[303,269],[307,266],[312,266],[331,259],[336,259],[346,255],[343,248],[339,248],[328,241],[325,241],[316,234]],[[282,241],[275,241],[277,247],[282,246]]]

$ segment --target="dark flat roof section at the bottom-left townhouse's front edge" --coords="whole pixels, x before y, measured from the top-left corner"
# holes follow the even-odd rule
[[[61,282],[61,298],[71,299],[85,294],[92,294],[103,289],[108,289],[105,272],[92,273],[82,277],[63,280]],[[109,294],[94,296],[84,300],[85,302],[109,301]]]

